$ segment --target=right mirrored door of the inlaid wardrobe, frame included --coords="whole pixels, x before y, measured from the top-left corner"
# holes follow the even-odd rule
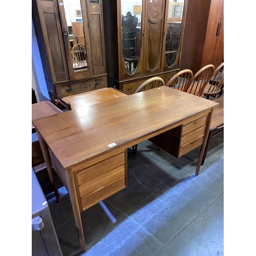
[[[187,0],[166,0],[161,72],[178,69]]]

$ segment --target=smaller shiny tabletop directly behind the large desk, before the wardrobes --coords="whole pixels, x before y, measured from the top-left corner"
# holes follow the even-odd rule
[[[129,95],[113,88],[103,88],[92,92],[64,97],[62,98],[62,100],[67,103],[70,103],[72,110],[75,110],[82,108],[84,106],[89,106],[124,96]]]

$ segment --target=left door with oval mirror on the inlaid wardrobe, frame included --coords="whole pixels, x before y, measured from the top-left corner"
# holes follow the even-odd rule
[[[117,1],[120,80],[143,76],[144,3],[145,0]]]

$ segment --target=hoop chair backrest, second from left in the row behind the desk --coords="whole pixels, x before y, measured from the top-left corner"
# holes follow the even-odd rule
[[[173,87],[179,91],[184,91],[184,89],[190,84],[193,77],[193,72],[189,69],[184,69],[177,74],[175,74],[170,80],[165,84],[167,87]]]

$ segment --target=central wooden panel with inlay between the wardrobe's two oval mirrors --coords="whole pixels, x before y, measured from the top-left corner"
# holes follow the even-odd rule
[[[146,0],[145,13],[144,75],[152,75],[160,73],[165,0]]]

